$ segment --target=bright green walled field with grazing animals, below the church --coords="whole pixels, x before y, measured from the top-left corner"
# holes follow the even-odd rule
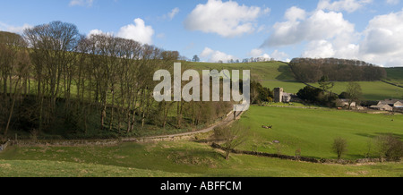
[[[347,140],[348,145],[344,158],[364,158],[368,153],[368,144],[382,133],[393,133],[403,139],[401,114],[251,106],[241,123],[250,126],[253,131],[253,139],[244,146],[245,150],[280,152],[290,156],[301,148],[304,157],[336,158],[330,148],[333,140],[341,137]],[[262,125],[272,125],[273,129],[264,129]],[[280,143],[274,144],[273,140]],[[369,152],[376,157],[374,149]]]

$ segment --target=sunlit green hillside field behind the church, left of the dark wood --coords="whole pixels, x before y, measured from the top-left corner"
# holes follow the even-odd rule
[[[280,62],[214,64],[214,63],[184,63],[183,69],[202,70],[251,70],[251,79],[260,81],[264,87],[271,90],[284,88],[288,93],[296,93],[304,88],[304,83],[296,81],[294,74],[287,64]]]

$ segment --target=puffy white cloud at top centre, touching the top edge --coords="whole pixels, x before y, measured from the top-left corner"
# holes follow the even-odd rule
[[[209,0],[207,4],[198,4],[184,21],[187,30],[200,30],[205,33],[217,33],[224,38],[241,36],[255,29],[255,20],[261,13],[268,13],[260,7],[239,5],[236,2]]]

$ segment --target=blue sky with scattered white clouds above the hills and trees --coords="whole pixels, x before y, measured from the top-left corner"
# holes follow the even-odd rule
[[[0,30],[50,21],[203,62],[336,57],[403,66],[403,0],[0,0]]]

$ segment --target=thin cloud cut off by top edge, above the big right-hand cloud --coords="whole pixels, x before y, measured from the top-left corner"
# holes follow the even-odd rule
[[[372,2],[373,0],[340,0],[330,3],[330,0],[321,0],[318,4],[318,9],[354,13],[356,10],[362,8],[365,4],[370,4]]]

